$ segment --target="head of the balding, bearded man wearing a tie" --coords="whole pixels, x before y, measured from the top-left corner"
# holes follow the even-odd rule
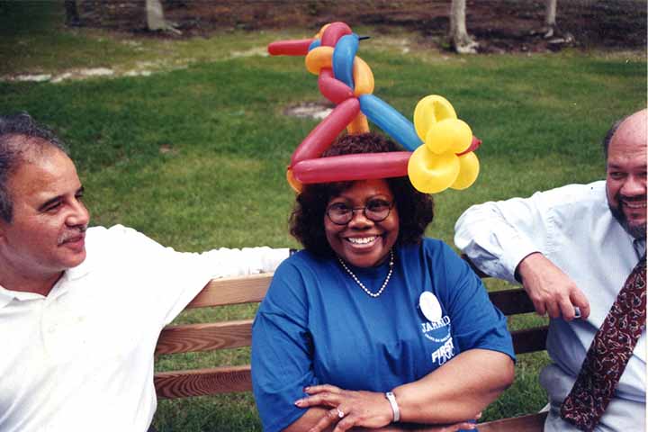
[[[617,122],[606,137],[608,205],[621,226],[646,238],[646,147],[648,112]]]

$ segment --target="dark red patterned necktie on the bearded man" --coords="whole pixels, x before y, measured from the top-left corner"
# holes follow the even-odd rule
[[[599,424],[644,330],[645,258],[639,260],[618,293],[591,343],[572,392],[563,401],[561,417],[581,430],[592,431]]]

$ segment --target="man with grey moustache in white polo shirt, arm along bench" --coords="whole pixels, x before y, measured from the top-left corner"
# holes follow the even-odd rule
[[[146,431],[160,330],[212,277],[288,249],[179,253],[87,228],[76,167],[29,115],[0,116],[0,430]]]

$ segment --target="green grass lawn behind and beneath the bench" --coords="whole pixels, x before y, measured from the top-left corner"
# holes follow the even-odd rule
[[[289,118],[284,109],[320,101],[317,79],[302,58],[236,53],[262,52],[270,40],[309,34],[266,31],[131,43],[101,31],[64,31],[58,9],[45,6],[38,10],[40,20],[24,22],[18,8],[0,3],[6,12],[0,14],[0,76],[71,67],[124,71],[138,61],[186,60],[178,60],[182,68],[158,64],[151,76],[0,82],[0,112],[28,111],[67,141],[92,224],[122,223],[181,250],[298,247],[286,229],[294,195],[284,170],[318,121]],[[613,121],[646,105],[642,53],[459,57],[410,49],[404,54],[391,43],[394,37],[372,34],[361,45],[360,55],[374,71],[374,94],[409,118],[422,97],[444,95],[484,141],[477,152],[482,163],[477,183],[435,196],[428,235],[450,244],[455,220],[473,203],[603,178],[603,135]],[[250,317],[254,309],[208,313],[179,320]],[[542,322],[536,316],[523,320]],[[248,358],[246,349],[238,349],[161,358],[157,367],[239,364]],[[537,373],[546,362],[543,354],[520,356],[516,383],[484,419],[542,408],[545,394]],[[160,431],[260,430],[249,393],[161,401],[155,425]]]

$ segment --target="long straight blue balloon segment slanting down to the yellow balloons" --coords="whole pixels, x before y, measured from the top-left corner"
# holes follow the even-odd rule
[[[362,94],[358,99],[360,100],[360,111],[401,146],[409,151],[414,151],[423,143],[412,122],[403,117],[401,112],[394,110],[392,105],[374,94]]]

